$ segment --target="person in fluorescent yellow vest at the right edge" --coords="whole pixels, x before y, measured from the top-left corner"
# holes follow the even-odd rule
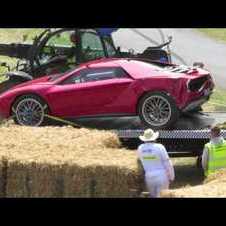
[[[206,177],[219,169],[226,168],[226,141],[217,126],[211,129],[210,142],[204,147],[202,168]]]

